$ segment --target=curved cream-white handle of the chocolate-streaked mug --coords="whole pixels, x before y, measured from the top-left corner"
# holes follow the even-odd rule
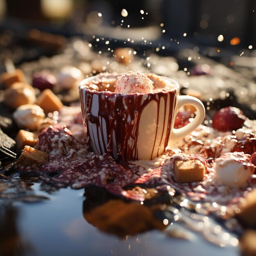
[[[169,136],[168,145],[173,144],[178,140],[184,138],[190,132],[193,132],[193,130],[198,128],[198,126],[202,123],[202,121],[204,121],[205,109],[204,109],[203,103],[199,99],[192,96],[188,96],[188,95],[178,96],[178,103],[177,103],[175,117],[177,115],[178,110],[185,105],[192,105],[196,108],[197,114],[195,116],[195,119],[191,123],[187,124],[186,126],[183,126],[182,128],[178,128],[178,129],[173,128]]]

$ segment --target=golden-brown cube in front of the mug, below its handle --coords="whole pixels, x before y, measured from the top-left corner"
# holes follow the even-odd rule
[[[205,169],[205,164],[198,159],[174,162],[174,174],[178,183],[202,181]]]

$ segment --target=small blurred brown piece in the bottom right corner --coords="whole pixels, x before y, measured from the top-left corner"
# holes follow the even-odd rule
[[[256,255],[256,231],[247,229],[243,236],[240,238],[240,249],[242,256],[255,256]]]

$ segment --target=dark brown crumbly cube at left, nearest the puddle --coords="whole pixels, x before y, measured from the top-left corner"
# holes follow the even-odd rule
[[[49,155],[43,151],[30,146],[25,146],[18,161],[17,166],[30,166],[32,169],[38,168],[48,162]]]

